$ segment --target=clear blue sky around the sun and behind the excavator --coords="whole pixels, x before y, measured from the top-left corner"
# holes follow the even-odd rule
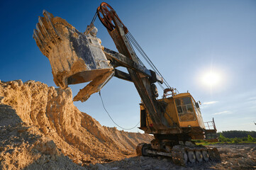
[[[214,117],[219,131],[256,130],[256,1],[106,2],[170,86],[181,93],[189,91],[196,101],[201,101],[205,121]],[[43,16],[45,9],[84,32],[100,3],[1,1],[1,81],[33,79],[55,86],[50,62],[32,38],[38,16]],[[116,50],[98,18],[95,26],[102,45]],[[202,81],[208,72],[218,75],[219,82],[214,86]],[[74,95],[84,84],[70,87]],[[101,94],[116,123],[130,128],[139,122],[140,97],[133,84],[114,77]],[[99,94],[74,104],[101,125],[115,126]]]

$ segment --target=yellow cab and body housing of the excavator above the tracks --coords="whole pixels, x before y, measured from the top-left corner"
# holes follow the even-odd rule
[[[205,138],[205,126],[198,103],[189,93],[177,94],[169,98],[157,100],[162,103],[162,109],[165,109],[165,118],[170,126],[172,134],[179,134],[186,131],[194,140]],[[154,124],[150,119],[143,103],[140,104],[140,129],[152,133]],[[148,129],[148,130],[146,130]]]

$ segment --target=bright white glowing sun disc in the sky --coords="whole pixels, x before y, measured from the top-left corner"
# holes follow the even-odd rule
[[[202,81],[206,86],[213,87],[220,83],[221,75],[217,72],[206,72],[202,77]]]

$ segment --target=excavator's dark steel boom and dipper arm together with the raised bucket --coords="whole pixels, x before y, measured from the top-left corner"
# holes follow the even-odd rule
[[[33,38],[43,55],[50,60],[53,80],[57,86],[65,89],[69,84],[90,81],[74,96],[74,101],[87,101],[91,94],[100,91],[113,76],[132,81],[147,106],[155,127],[165,130],[168,127],[167,121],[160,114],[160,106],[152,94],[152,84],[156,81],[162,83],[162,77],[139,64],[120,19],[114,11],[110,12],[113,13],[117,26],[108,33],[120,53],[101,46],[93,23],[84,33],[79,33],[67,21],[54,17],[47,11],[43,11],[44,17],[39,17]],[[115,69],[118,66],[126,67],[128,73]]]

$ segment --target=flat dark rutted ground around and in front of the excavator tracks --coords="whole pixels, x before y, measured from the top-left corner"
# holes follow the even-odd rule
[[[221,162],[175,165],[168,157],[131,157],[118,162],[95,164],[88,169],[256,169],[256,144],[214,145],[221,154]]]

